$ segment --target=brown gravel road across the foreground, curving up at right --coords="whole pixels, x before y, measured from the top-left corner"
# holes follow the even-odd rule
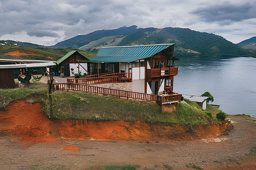
[[[104,164],[139,164],[140,169],[251,169],[256,167],[256,119],[229,116],[234,129],[211,140],[141,143],[60,139],[55,143],[23,146],[0,135],[0,169],[85,169]],[[77,152],[63,149],[79,147]],[[249,156],[248,156],[249,153]],[[246,160],[249,165],[245,165]],[[247,162],[248,163],[248,162]],[[254,166],[255,165],[255,166]],[[167,167],[167,166],[166,166]],[[253,169],[252,168],[252,169]]]

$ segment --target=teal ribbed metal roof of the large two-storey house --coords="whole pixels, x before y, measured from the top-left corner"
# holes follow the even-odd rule
[[[142,46],[103,47],[91,62],[134,62],[146,59],[174,44],[154,44]]]

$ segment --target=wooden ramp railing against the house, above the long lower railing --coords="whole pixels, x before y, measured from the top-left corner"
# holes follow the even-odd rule
[[[93,76],[93,75],[91,75]],[[99,84],[99,83],[124,83],[132,82],[132,73],[111,73],[111,74],[97,74],[95,77],[86,78],[67,78],[68,83],[79,83],[79,84]]]

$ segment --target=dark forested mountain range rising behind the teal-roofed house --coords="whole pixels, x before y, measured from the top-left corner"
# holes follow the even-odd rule
[[[250,56],[250,51],[221,36],[188,28],[121,27],[78,35],[53,47],[79,48],[97,52],[102,47],[175,43],[174,55],[233,55]]]

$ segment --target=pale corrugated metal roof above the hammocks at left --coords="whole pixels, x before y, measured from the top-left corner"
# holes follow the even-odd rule
[[[7,64],[7,65],[0,65],[0,69],[34,68],[34,67],[47,67],[47,66],[55,66],[55,65],[56,65],[55,62]]]

